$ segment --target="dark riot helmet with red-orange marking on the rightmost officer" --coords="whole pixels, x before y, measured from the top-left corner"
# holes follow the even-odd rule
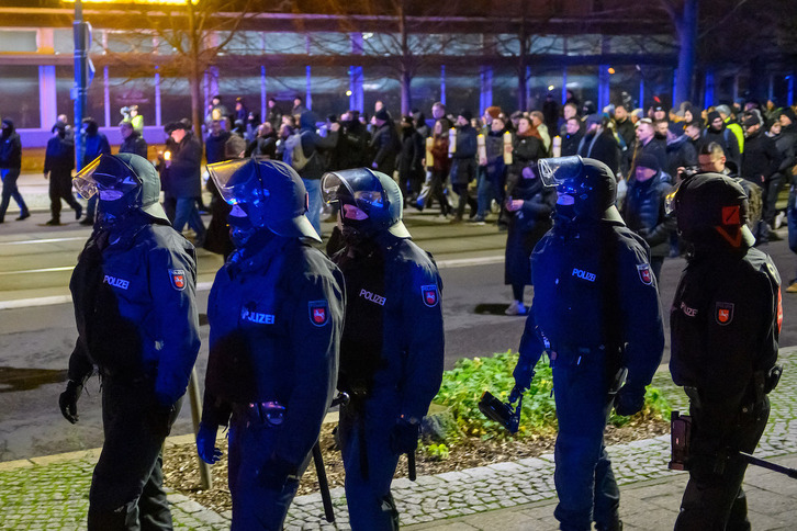
[[[667,197],[667,213],[675,215],[684,240],[696,247],[745,249],[755,245],[747,225],[744,189],[721,173],[699,173],[682,181]]]

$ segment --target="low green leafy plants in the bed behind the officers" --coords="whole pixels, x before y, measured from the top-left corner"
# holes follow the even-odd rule
[[[444,373],[442,385],[435,397],[435,403],[449,408],[457,426],[465,437],[537,439],[555,432],[557,410],[551,393],[553,382],[551,368],[548,366],[545,358],[537,364],[537,373],[531,382],[531,387],[524,395],[520,429],[515,436],[497,422],[489,420],[479,410],[479,399],[485,391],[490,391],[502,400],[507,399],[515,386],[512,372],[517,363],[517,358],[516,352],[507,351],[490,358],[461,359],[452,370]],[[622,426],[635,418],[670,418],[670,406],[659,389],[648,387],[642,411],[633,417],[618,417],[613,411],[609,422]]]

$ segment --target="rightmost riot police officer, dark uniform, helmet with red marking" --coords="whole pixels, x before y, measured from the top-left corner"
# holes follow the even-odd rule
[[[684,181],[672,210],[694,246],[670,310],[673,381],[689,396],[689,483],[676,530],[750,529],[741,488],[770,416],[783,319],[781,276],[753,248],[748,199],[732,179]]]

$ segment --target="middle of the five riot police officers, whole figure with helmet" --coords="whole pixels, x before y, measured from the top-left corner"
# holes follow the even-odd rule
[[[346,324],[338,388],[346,499],[355,531],[398,529],[390,494],[398,456],[414,453],[420,419],[442,379],[442,283],[431,257],[409,240],[398,185],[360,168],[326,173],[339,204]]]

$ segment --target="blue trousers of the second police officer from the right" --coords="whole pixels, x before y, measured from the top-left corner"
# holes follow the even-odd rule
[[[559,355],[553,363],[553,396],[559,433],[553,479],[559,504],[553,516],[560,529],[616,529],[620,492],[604,445],[604,430],[614,404],[614,373],[603,353]]]

